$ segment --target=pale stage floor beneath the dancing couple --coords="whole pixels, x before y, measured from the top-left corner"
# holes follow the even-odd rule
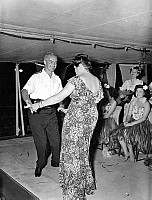
[[[97,191],[87,200],[152,200],[152,171],[143,163],[145,156],[139,157],[141,160],[136,163],[123,162],[123,157],[117,155],[103,158],[97,149],[94,163]],[[51,167],[49,159],[42,176],[35,177],[35,161],[31,136],[0,140],[2,171],[40,200],[62,200],[58,168]]]

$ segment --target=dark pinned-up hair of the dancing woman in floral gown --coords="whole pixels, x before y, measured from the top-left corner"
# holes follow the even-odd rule
[[[77,54],[75,56],[75,58],[72,60],[73,65],[75,65],[76,67],[78,67],[78,65],[81,62],[84,63],[87,66],[88,69],[92,69],[92,65],[91,65],[91,62],[89,60],[88,55],[86,55],[86,54]]]

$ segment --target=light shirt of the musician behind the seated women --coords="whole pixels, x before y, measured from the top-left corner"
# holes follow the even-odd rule
[[[131,90],[134,91],[136,85],[143,85],[143,81],[136,79],[134,84],[131,82],[131,80],[126,80],[124,84],[120,87],[120,90]]]

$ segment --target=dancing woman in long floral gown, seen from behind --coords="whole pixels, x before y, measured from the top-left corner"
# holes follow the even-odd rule
[[[56,104],[70,95],[62,128],[59,180],[64,200],[83,200],[96,189],[89,164],[89,146],[103,90],[99,79],[90,73],[91,63],[86,55],[76,56],[73,64],[76,76],[69,79],[60,93],[33,104],[32,109]]]

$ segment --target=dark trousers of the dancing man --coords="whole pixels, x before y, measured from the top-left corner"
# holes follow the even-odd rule
[[[58,164],[60,158],[60,134],[56,108],[39,109],[36,113],[29,110],[29,123],[37,151],[37,167],[44,168],[52,153],[51,163]]]

